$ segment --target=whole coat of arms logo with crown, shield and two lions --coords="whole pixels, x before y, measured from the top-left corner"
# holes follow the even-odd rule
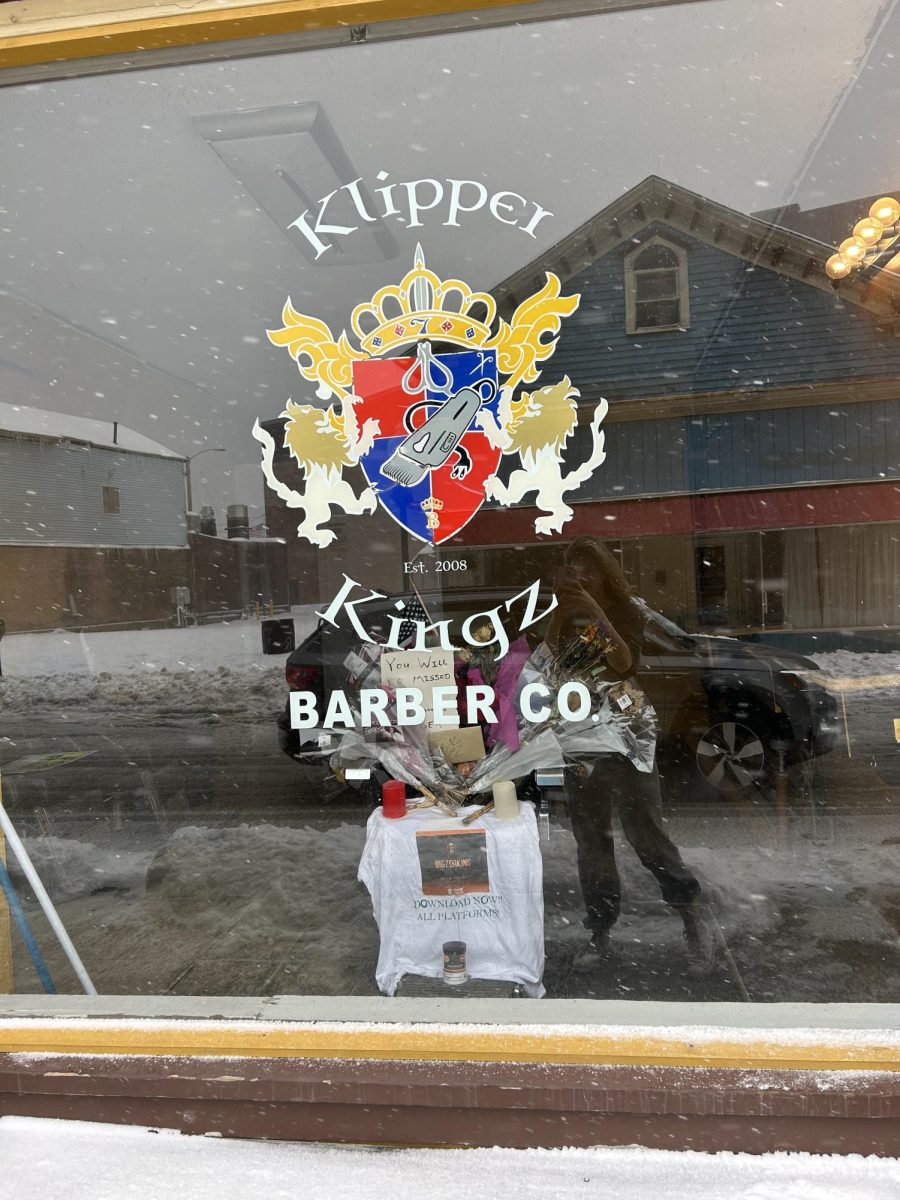
[[[298,535],[314,546],[336,538],[326,528],[332,508],[373,512],[380,502],[414,538],[439,545],[457,534],[486,500],[518,504],[534,492],[542,514],[538,534],[559,533],[572,516],[565,496],[586,484],[604,462],[605,400],[590,420],[583,461],[564,472],[563,450],[578,424],[578,391],[568,377],[524,391],[540,379],[562,322],[578,295],[560,294],[556,275],[497,320],[497,305],[461,280],[442,280],[416,248],[413,269],[398,284],[380,288],[350,316],[354,344],[337,340],[316,317],[296,312],[290,299],[283,326],[269,330],[286,347],[304,379],[328,407],[295,403],[287,418],[284,448],[305,476],[298,492],[275,474],[275,440],[259,421],[263,473],[292,509],[302,509]],[[496,328],[494,328],[496,325]],[[504,482],[504,455],[518,467]],[[359,494],[343,478],[359,466],[368,484]]]

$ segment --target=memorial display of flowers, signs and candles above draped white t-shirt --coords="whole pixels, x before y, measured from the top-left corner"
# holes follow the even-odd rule
[[[599,553],[589,540],[582,542],[582,556]],[[588,582],[589,576],[576,569],[574,578]],[[568,583],[559,593],[563,606],[554,595],[539,623],[544,638],[533,634],[534,649],[524,635],[499,636],[496,612],[469,616],[463,628],[470,630],[473,644],[452,654],[440,647],[397,650],[366,642],[344,659],[347,690],[332,692],[329,702],[332,720],[326,726],[338,740],[330,764],[340,778],[386,780],[382,809],[368,821],[360,878],[372,895],[379,928],[377,980],[389,995],[406,973],[440,977],[451,986],[467,976],[457,952],[450,955],[456,965],[448,968],[444,949],[442,966],[437,935],[422,934],[426,918],[415,910],[430,896],[464,898],[438,901],[427,919],[456,920],[454,932],[469,947],[468,976],[514,980],[528,995],[542,995],[542,967],[534,950],[539,941],[542,964],[540,851],[529,803],[538,799],[534,780],[547,769],[583,779],[598,762],[614,761],[625,762],[626,772],[654,772],[655,713],[634,683],[630,650],[624,673],[611,670],[610,656],[624,643],[606,613],[580,587],[572,590]],[[605,602],[613,601],[608,592]],[[418,626],[401,626],[416,647],[428,641],[428,630],[433,634],[433,623],[424,619],[408,625]],[[340,710],[334,703],[338,695]],[[538,695],[552,696],[552,702],[536,707]],[[305,698],[314,697],[300,695],[298,713]],[[406,784],[416,793],[410,802],[401,794]],[[517,787],[527,797],[523,805]],[[390,826],[403,817],[406,833],[397,820],[391,834]],[[448,818],[455,818],[452,826]],[[520,838],[498,834],[506,822],[518,827]],[[413,827],[418,856],[409,851]],[[511,872],[522,869],[529,848],[536,857],[524,886]],[[515,865],[508,856],[515,856]],[[590,924],[594,898],[584,890]],[[488,893],[493,904],[481,898]],[[685,928],[696,968],[708,971],[713,942],[697,910],[690,912]],[[468,922],[481,918],[488,923],[473,938]],[[526,934],[533,943],[529,955],[521,949]]]

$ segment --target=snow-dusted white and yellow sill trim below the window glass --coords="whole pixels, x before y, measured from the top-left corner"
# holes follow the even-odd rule
[[[5,996],[0,1054],[900,1072],[900,1006]],[[462,1006],[466,1008],[466,1006]]]

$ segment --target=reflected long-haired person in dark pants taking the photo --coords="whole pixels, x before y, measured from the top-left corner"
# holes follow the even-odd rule
[[[558,654],[587,624],[595,625],[606,641],[600,682],[625,680],[636,689],[643,614],[616,557],[601,541],[577,538],[566,550],[562,574],[556,589],[559,605],[547,629],[550,650]],[[689,973],[710,971],[712,925],[700,900],[700,882],[662,827],[655,763],[642,772],[624,754],[600,754],[587,775],[566,773],[566,794],[593,948],[600,955],[610,953],[610,931],[619,917],[622,883],[612,832],[618,812],[625,838],[684,923]]]

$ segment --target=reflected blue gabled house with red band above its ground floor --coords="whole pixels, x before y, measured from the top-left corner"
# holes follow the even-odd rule
[[[581,293],[542,382],[608,398],[607,458],[562,541],[607,539],[690,629],[893,644],[900,281],[824,271],[870,203],[746,216],[650,176],[493,289],[506,319],[547,270]],[[535,515],[485,508],[452,545],[479,582],[550,578]]]

